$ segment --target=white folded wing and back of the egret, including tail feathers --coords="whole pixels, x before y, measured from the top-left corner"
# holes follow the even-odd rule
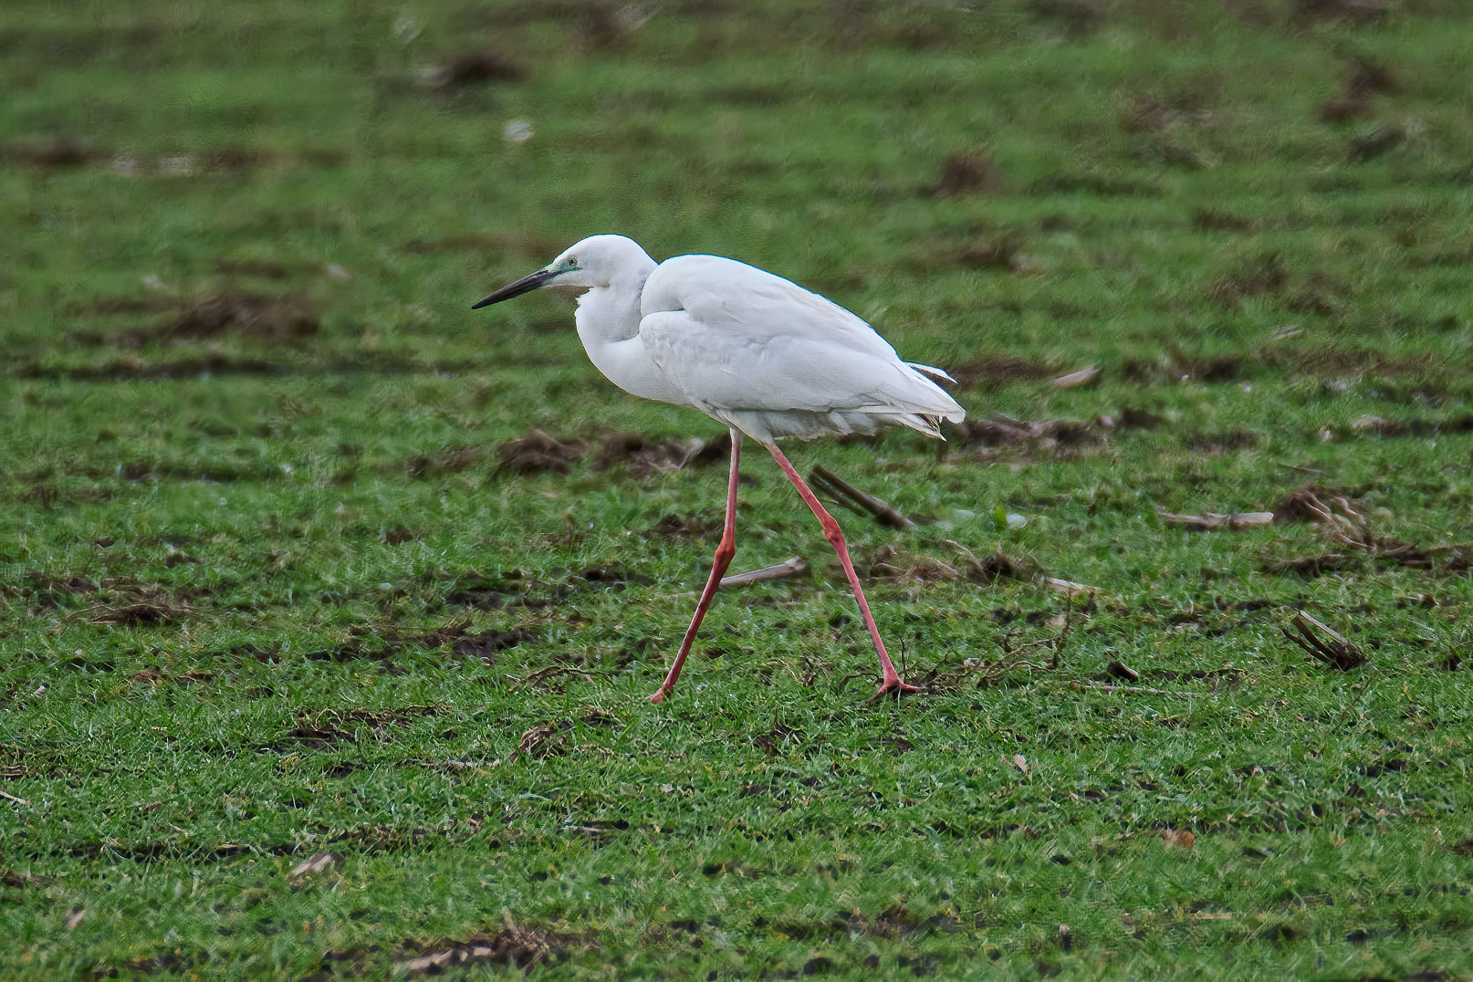
[[[756,439],[884,423],[938,436],[938,418],[965,418],[863,319],[735,259],[667,259],[645,281],[641,315],[645,349],[692,405]]]

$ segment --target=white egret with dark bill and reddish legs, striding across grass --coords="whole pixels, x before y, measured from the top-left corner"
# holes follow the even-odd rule
[[[650,701],[660,702],[675,688],[736,551],[742,434],[772,453],[838,554],[879,654],[875,698],[916,692],[916,686],[900,680],[885,652],[844,533],[776,440],[873,433],[890,423],[940,439],[941,420],[960,423],[966,415],[937,384],[952,377],[940,368],[900,361],[869,324],[795,283],[720,256],[675,256],[657,264],[623,236],[591,236],[473,309],[545,286],[586,290],[574,315],[577,336],[611,383],[632,396],[700,409],[731,428],[726,521],[711,576],[670,673]]]

